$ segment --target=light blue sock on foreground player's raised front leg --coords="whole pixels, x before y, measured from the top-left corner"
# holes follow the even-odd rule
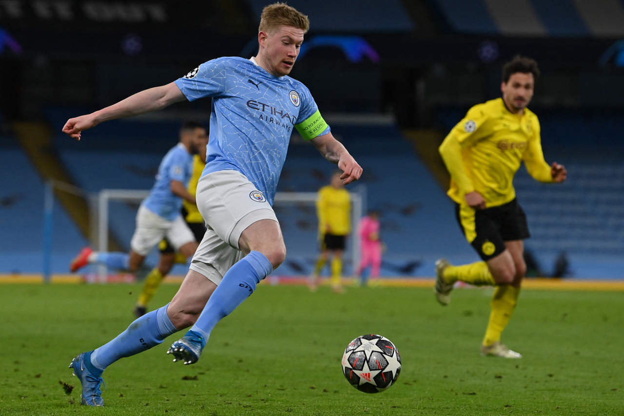
[[[251,251],[223,276],[190,330],[201,334],[205,344],[217,322],[243,303],[256,289],[256,284],[271,272],[273,265],[265,255],[259,251]]]

